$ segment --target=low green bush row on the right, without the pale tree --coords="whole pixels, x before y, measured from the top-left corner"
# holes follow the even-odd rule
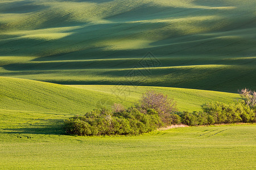
[[[256,111],[243,101],[225,104],[220,102],[202,105],[200,112],[178,112],[182,124],[189,126],[253,123]]]

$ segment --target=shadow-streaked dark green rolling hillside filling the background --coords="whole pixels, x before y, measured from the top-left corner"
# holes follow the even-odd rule
[[[1,1],[0,30],[2,76],[256,88],[253,0]],[[148,51],[157,58],[151,70],[146,62],[152,60],[143,58]]]

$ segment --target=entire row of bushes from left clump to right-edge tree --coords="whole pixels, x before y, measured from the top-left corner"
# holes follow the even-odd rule
[[[114,104],[111,111],[94,109],[84,116],[65,120],[64,127],[68,134],[73,135],[135,135],[178,124],[198,126],[255,122],[255,92],[242,90],[241,97],[243,100],[232,104],[204,104],[200,112],[177,112],[174,100],[148,91],[133,107],[125,109],[121,104]]]

